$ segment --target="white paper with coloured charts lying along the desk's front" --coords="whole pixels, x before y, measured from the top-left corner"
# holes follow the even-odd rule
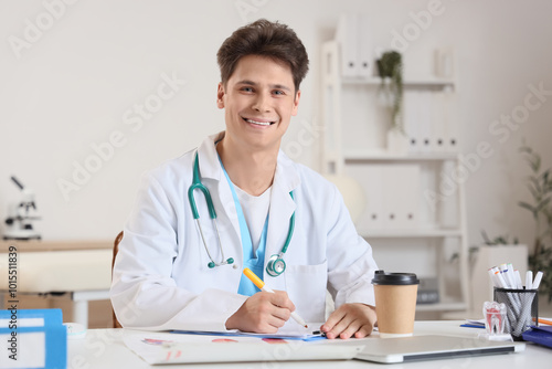
[[[146,362],[235,362],[352,359],[362,346],[312,345],[248,336],[130,333],[125,345]]]

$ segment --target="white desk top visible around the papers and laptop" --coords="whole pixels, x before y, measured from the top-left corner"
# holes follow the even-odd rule
[[[459,327],[461,321],[416,321],[414,333],[420,335],[443,334],[463,337],[475,337],[480,331],[477,328]],[[137,355],[131,352],[123,342],[121,337],[125,329],[91,329],[86,338],[72,339],[68,341],[67,368],[153,368]],[[482,356],[475,358],[443,359],[432,361],[420,361],[385,366],[390,369],[431,369],[431,368],[546,368],[552,359],[552,350],[545,347],[528,342],[527,349],[519,354]],[[367,368],[382,365],[368,361],[295,361],[295,362],[234,362],[223,365],[170,365],[164,368]]]

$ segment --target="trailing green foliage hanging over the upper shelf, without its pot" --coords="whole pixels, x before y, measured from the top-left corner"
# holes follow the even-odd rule
[[[384,95],[391,110],[391,128],[404,134],[401,120],[403,103],[403,61],[396,51],[384,52],[376,61],[381,77],[380,93]],[[389,81],[389,83],[388,83]]]

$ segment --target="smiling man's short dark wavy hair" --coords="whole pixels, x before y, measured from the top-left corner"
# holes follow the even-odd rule
[[[286,24],[266,19],[237,29],[219,49],[216,60],[224,85],[234,73],[240,59],[247,55],[266,56],[289,65],[296,92],[309,68],[307,51],[295,31]]]

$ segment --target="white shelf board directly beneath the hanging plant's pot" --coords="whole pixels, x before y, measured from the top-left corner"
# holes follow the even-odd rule
[[[353,161],[444,161],[455,160],[457,152],[416,152],[397,155],[384,150],[346,150],[343,158]]]

